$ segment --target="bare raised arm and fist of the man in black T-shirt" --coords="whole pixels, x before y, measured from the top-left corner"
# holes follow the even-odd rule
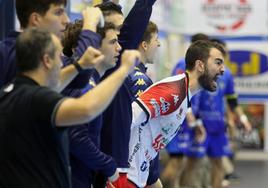
[[[103,112],[139,58],[138,51],[126,50],[122,55],[122,65],[117,71],[80,98],[64,100],[56,112],[56,125],[85,123]]]

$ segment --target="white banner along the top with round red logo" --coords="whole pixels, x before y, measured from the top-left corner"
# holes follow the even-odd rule
[[[135,0],[121,0],[125,13]],[[157,0],[152,20],[162,31],[267,35],[268,0]]]

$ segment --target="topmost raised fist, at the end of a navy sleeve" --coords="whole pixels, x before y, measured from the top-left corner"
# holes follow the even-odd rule
[[[96,32],[98,24],[103,22],[103,14],[98,7],[87,7],[82,11],[82,15],[84,20],[83,30]]]

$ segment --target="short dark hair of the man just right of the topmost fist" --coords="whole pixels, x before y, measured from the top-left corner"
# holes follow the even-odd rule
[[[114,13],[118,13],[118,14],[123,15],[122,7],[118,4],[111,2],[111,1],[103,2],[101,4],[96,5],[95,7],[99,7],[101,9],[104,17],[109,16],[109,15],[114,14]]]

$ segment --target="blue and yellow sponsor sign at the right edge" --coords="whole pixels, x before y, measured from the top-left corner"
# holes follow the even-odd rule
[[[265,95],[268,93],[268,56],[257,51],[232,50],[226,65],[235,76],[238,94]],[[251,97],[254,98],[254,97]]]

